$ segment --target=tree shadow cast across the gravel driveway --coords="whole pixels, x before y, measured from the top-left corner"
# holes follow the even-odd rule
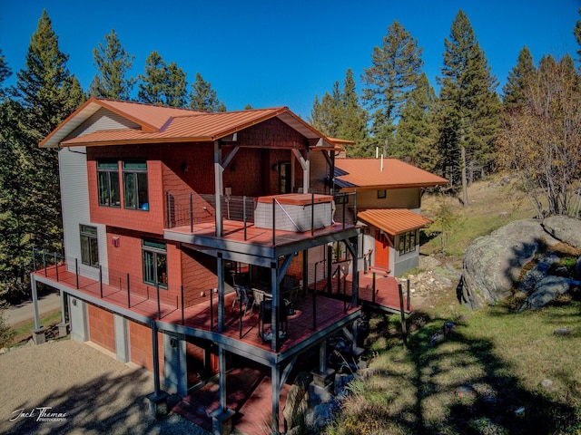
[[[42,370],[42,364],[39,367]],[[66,370],[64,367],[63,376]],[[34,399],[15,406],[15,412],[0,422],[0,432],[19,435],[206,433],[176,416],[155,420],[149,401],[140,393],[143,384],[152,385],[151,376],[135,371],[103,375],[72,388],[51,391],[44,397],[31,391],[30,397]],[[178,400],[171,396],[169,405]],[[43,412],[43,408],[47,409]]]

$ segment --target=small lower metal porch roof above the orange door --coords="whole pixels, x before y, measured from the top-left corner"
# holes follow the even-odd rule
[[[431,220],[407,208],[382,208],[359,211],[357,218],[384,230],[391,236],[426,227]]]

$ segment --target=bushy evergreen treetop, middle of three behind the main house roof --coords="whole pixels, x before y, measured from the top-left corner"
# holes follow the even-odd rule
[[[153,51],[145,59],[145,74],[139,76],[137,93],[140,102],[184,107],[186,104],[185,73],[175,63],[163,62],[162,56]]]

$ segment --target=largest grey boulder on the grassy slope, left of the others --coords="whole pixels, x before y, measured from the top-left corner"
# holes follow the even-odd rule
[[[523,266],[539,247],[559,243],[536,219],[517,220],[478,237],[467,248],[462,273],[461,299],[471,309],[512,295]]]

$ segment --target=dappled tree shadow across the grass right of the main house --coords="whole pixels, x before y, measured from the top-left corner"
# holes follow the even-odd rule
[[[497,356],[492,340],[469,338],[461,322],[444,337],[445,322],[432,319],[412,333],[407,352],[389,350],[396,352],[389,356],[385,375],[367,383],[365,401],[351,400],[340,418],[357,422],[359,431],[331,433],[578,433],[581,390],[576,373],[555,376],[570,385],[568,401],[557,401],[547,391],[529,391],[511,374],[511,364]],[[439,337],[436,343],[434,336]]]

